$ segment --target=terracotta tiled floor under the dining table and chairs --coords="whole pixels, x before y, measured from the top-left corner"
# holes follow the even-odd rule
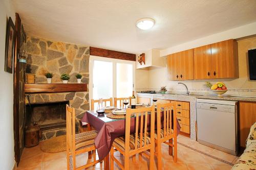
[[[162,145],[162,162],[164,164],[164,169],[225,170],[230,169],[230,163],[234,163],[237,160],[236,156],[232,156],[221,151],[217,151],[215,149],[206,147],[204,145],[199,144],[197,141],[191,140],[190,138],[181,135],[178,136],[178,142],[179,144],[177,163],[174,163],[173,157],[168,155],[167,145]],[[187,146],[190,148],[188,148]],[[196,151],[191,148],[196,149]],[[211,158],[207,156],[207,154],[217,157],[219,158],[219,160]],[[123,157],[119,153],[116,153],[115,155],[116,158],[123,163]],[[77,156],[77,164],[85,164],[87,158],[88,154],[82,154]],[[149,160],[146,159],[145,157],[143,158],[144,159],[142,161],[139,161],[139,159],[136,158],[136,162],[132,162],[132,159],[130,159],[130,169],[147,169],[149,165]],[[229,162],[229,164],[224,163],[225,161]],[[157,162],[156,158],[155,162]],[[66,164],[66,152],[45,153],[40,150],[40,147],[38,145],[37,147],[34,148],[25,148],[17,170],[63,170],[67,169]],[[103,163],[98,163],[94,167],[90,167],[88,169],[103,169]],[[115,169],[120,169],[118,168],[117,164],[115,164]],[[157,169],[156,163],[155,169]]]

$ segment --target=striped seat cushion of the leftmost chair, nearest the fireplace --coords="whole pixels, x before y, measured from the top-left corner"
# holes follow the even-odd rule
[[[94,139],[97,134],[97,131],[89,131],[76,134],[76,150],[91,147],[91,145],[94,145]]]

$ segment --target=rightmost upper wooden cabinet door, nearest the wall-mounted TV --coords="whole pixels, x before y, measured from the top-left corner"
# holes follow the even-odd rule
[[[238,78],[237,41],[233,39],[211,44],[212,78]]]

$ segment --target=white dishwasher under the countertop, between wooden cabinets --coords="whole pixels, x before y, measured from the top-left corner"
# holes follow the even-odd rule
[[[237,110],[237,101],[197,99],[198,142],[237,155]]]

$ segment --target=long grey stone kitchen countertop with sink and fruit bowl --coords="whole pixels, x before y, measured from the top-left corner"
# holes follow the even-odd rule
[[[246,97],[246,96],[232,96],[232,95],[198,95],[198,94],[173,94],[173,93],[167,93],[167,94],[161,94],[161,93],[137,93],[139,95],[148,95],[148,96],[162,96],[163,98],[179,98],[182,97],[184,99],[185,96],[187,97],[194,97],[197,99],[214,99],[214,100],[227,100],[227,101],[246,101],[246,102],[256,102],[256,96],[254,97]]]

